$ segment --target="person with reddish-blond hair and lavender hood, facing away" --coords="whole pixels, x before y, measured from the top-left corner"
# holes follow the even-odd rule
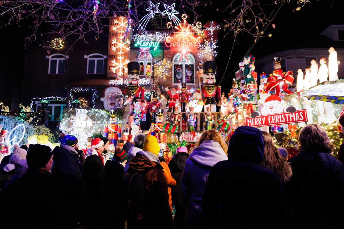
[[[206,130],[196,146],[185,162],[180,183],[186,206],[185,228],[208,228],[202,212],[202,195],[212,167],[219,161],[227,160],[224,151],[227,145],[216,130]]]

